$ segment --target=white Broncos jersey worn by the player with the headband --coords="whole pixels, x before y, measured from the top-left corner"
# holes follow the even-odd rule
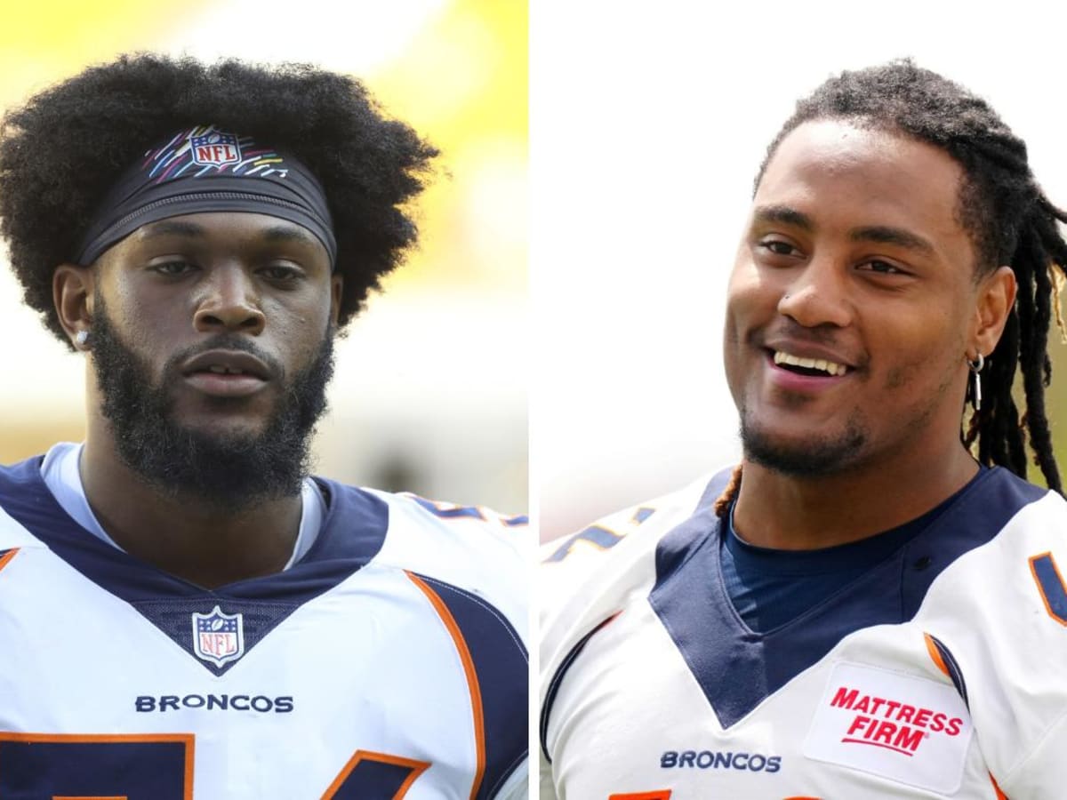
[[[205,590],[0,468],[0,798],[525,797],[516,528],[315,479],[285,572]]]

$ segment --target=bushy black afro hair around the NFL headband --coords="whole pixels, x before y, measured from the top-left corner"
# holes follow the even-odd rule
[[[123,170],[193,125],[237,130],[302,161],[325,191],[344,275],[339,325],[414,245],[402,205],[437,150],[388,119],[357,80],[306,64],[124,55],[54,85],[0,123],[0,234],[26,303],[67,342],[52,272]]]

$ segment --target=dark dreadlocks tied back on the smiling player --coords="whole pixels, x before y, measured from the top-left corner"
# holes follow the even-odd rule
[[[1045,413],[1045,388],[1052,380],[1046,345],[1054,303],[1063,326],[1057,285],[1067,276],[1067,242],[1057,222],[1067,223],[1067,212],[1055,207],[1037,185],[1025,143],[982,98],[910,60],[893,61],[843,71],[799,100],[767,148],[757,187],[782,140],[815,119],[844,119],[904,133],[941,148],[962,167],[956,217],[974,243],[975,279],[1007,265],[1019,290],[1004,333],[986,357],[982,409],[971,415],[961,437],[972,451],[976,446],[981,463],[998,464],[1025,478],[1029,433],[1034,462],[1049,489],[1063,494]],[[1021,421],[1012,396],[1017,370],[1022,373],[1025,397]],[[738,473],[719,498],[726,502],[716,508],[724,513],[739,483]]]

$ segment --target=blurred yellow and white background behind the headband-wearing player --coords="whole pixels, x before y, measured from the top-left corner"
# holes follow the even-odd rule
[[[141,50],[312,62],[363,79],[443,156],[415,207],[417,252],[339,342],[318,471],[517,512],[527,507],[526,13],[511,0],[7,4],[0,105]],[[20,307],[3,273],[0,462],[10,463],[83,435],[83,377],[80,356]]]

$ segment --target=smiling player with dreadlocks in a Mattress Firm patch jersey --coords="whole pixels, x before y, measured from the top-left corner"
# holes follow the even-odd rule
[[[547,546],[543,799],[1064,796],[1065,221],[909,61],[799,101],[727,294],[740,465]]]

